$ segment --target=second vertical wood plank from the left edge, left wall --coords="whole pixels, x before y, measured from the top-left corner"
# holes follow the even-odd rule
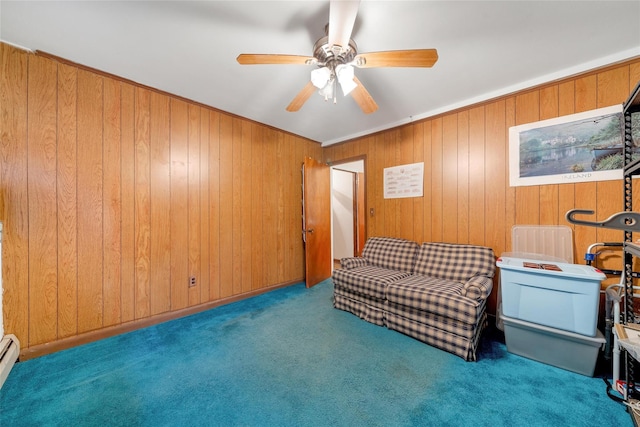
[[[55,340],[58,333],[57,73],[55,63],[29,59],[29,345]]]

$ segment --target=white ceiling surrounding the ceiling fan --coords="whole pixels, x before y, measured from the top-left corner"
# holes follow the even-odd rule
[[[356,69],[379,105],[313,95],[285,107],[309,65],[240,53],[313,54],[328,1],[0,1],[0,40],[310,138],[366,135],[640,55],[640,1],[366,1],[358,52],[438,49],[433,68]]]

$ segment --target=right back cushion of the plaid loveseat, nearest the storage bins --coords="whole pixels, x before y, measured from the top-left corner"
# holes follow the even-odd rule
[[[493,249],[455,243],[423,243],[414,272],[438,279],[466,282],[475,276],[493,277]]]

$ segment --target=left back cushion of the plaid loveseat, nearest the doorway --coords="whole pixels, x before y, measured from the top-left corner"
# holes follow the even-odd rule
[[[411,273],[419,247],[411,240],[371,237],[364,245],[362,256],[370,265]]]

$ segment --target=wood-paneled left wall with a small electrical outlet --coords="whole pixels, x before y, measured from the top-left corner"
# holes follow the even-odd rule
[[[319,144],[0,58],[4,327],[23,348],[303,279],[300,170]]]

